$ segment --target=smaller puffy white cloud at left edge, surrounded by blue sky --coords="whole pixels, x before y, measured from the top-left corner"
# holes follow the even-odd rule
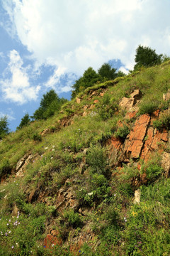
[[[23,104],[28,100],[37,99],[40,86],[30,85],[27,68],[23,68],[23,60],[16,50],[11,50],[9,54],[4,76],[5,78],[0,80],[3,100]]]

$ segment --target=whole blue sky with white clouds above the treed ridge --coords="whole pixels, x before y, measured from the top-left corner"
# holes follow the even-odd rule
[[[170,55],[169,0],[1,0],[0,117],[15,130],[55,89],[109,60],[132,69],[140,44]]]

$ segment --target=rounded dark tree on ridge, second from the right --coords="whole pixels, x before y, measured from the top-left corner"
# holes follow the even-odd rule
[[[115,68],[111,68],[111,65],[104,63],[101,68],[98,69],[98,75],[107,80],[114,80],[117,78],[117,73]]]

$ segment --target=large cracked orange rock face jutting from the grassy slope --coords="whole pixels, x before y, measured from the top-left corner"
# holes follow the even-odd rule
[[[131,114],[128,113],[128,116],[133,118],[136,112],[132,112]],[[130,159],[134,161],[138,161],[138,159],[148,161],[155,151],[162,154],[169,142],[169,134],[166,129],[159,131],[152,127],[153,121],[158,117],[159,110],[151,116],[149,114],[142,114],[142,116],[136,119],[125,142],[115,137],[112,137],[108,141],[111,166],[122,166],[123,163],[130,162]],[[123,124],[122,122],[118,122],[118,125],[122,127]],[[164,153],[162,166],[167,175],[170,169],[169,161],[170,157],[168,153]]]

